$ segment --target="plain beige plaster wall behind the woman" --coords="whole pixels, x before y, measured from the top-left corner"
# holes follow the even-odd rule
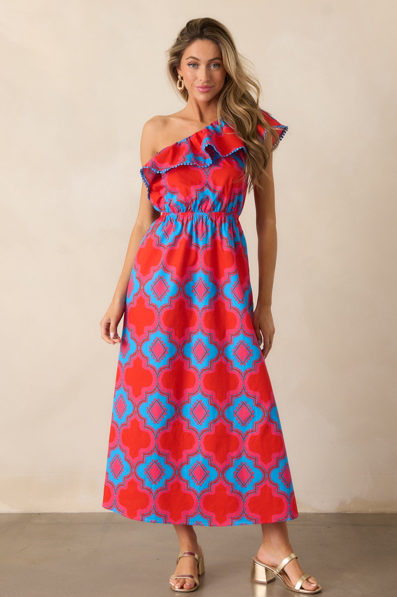
[[[164,51],[223,21],[274,156],[266,359],[301,512],[395,512],[394,2],[2,0],[0,510],[103,511],[118,346],[101,340],[137,213],[143,123],[182,109]],[[257,295],[253,196],[241,217]]]

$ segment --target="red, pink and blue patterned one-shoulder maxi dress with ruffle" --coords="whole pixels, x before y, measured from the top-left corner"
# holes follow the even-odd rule
[[[261,112],[282,139],[288,127]],[[140,169],[160,216],[127,289],[102,503],[127,518],[223,527],[298,516],[252,325],[245,156],[215,121]]]

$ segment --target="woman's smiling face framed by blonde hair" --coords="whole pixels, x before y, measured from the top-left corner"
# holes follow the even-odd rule
[[[221,90],[226,77],[222,54],[215,42],[197,39],[187,46],[177,72],[183,78],[189,97],[211,101]]]

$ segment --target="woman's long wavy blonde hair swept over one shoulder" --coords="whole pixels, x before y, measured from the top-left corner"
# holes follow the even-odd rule
[[[260,107],[262,91],[258,79],[246,66],[249,62],[237,51],[235,41],[227,27],[220,21],[203,17],[187,21],[179,31],[173,45],[167,50],[167,77],[176,90],[178,80],[177,67],[180,66],[186,48],[196,39],[210,39],[218,45],[222,53],[223,65],[226,69],[226,83],[220,91],[217,104],[217,119],[230,124],[242,138],[246,148],[245,176],[248,180],[248,191],[254,185],[261,187],[259,177],[270,159],[270,152],[280,143],[279,134],[265,121]],[[177,94],[187,101],[186,87]],[[257,125],[269,131],[274,142],[268,149],[258,135]]]

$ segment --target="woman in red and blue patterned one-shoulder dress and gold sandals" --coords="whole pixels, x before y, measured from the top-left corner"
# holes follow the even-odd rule
[[[168,54],[186,106],[143,127],[139,211],[101,321],[102,338],[120,344],[103,506],[174,525],[174,591],[197,589],[204,573],[194,525],[261,524],[251,580],[277,576],[316,593],[289,543],[286,521],[298,512],[264,361],[274,336],[272,152],[287,127],[258,106],[260,86],[219,21],[190,20]],[[255,310],[238,219],[249,189]]]

